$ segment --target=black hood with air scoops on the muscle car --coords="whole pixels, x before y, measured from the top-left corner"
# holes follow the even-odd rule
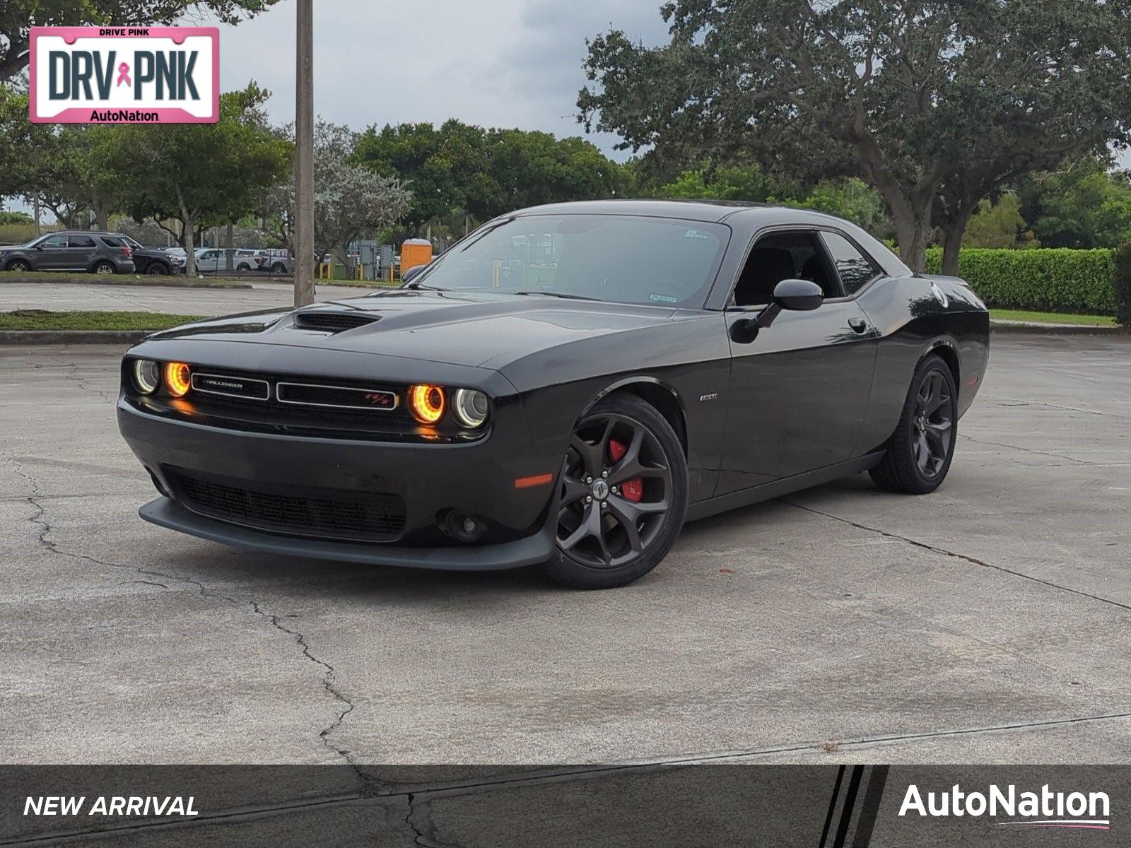
[[[671,306],[636,306],[539,295],[392,289],[199,321],[149,338],[247,341],[500,367],[530,353],[595,336],[662,325]],[[302,317],[348,313],[369,323],[331,332]],[[299,317],[299,323],[295,318]]]

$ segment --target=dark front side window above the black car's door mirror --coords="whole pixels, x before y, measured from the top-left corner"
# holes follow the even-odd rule
[[[769,303],[774,287],[783,279],[811,280],[821,287],[826,297],[843,295],[815,231],[769,233],[754,242],[734,286],[735,305]]]

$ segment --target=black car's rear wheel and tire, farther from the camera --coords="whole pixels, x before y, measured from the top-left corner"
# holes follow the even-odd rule
[[[958,390],[950,366],[927,356],[915,369],[887,453],[869,474],[888,492],[927,494],[947,477],[955,456]]]

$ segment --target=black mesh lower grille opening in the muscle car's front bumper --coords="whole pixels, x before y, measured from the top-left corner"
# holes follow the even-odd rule
[[[185,505],[222,521],[296,536],[385,540],[405,529],[405,500],[388,492],[249,488],[242,481],[200,477],[175,469],[166,476]]]

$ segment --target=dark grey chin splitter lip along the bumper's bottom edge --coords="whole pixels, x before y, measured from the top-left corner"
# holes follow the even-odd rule
[[[308,539],[262,533],[216,521],[185,509],[170,497],[158,497],[141,507],[146,521],[222,545],[262,554],[309,556],[337,562],[402,565],[414,569],[497,571],[545,562],[553,554],[553,527],[515,542],[466,547],[398,547],[328,539]]]

